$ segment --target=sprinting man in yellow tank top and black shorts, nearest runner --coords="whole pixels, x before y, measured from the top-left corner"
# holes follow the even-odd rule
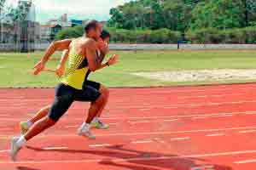
[[[40,71],[44,71],[44,65],[56,50],[69,50],[66,74],[61,83],[55,88],[55,101],[51,105],[49,114],[36,122],[24,135],[11,139],[10,156],[12,160],[16,160],[19,150],[26,144],[26,141],[54,126],[75,100],[91,102],[87,119],[79,127],[79,135],[95,139],[95,136],[90,132],[90,122],[92,122],[98,111],[101,110],[106,99],[95,88],[90,86],[84,86],[83,88],[84,77],[89,69],[90,71],[97,71],[118,61],[118,56],[113,55],[103,65],[97,62],[96,41],[100,38],[101,33],[101,24],[96,20],[90,20],[84,27],[83,37],[51,43],[44,57],[35,65],[34,74],[37,75]],[[86,62],[88,66],[80,67]]]

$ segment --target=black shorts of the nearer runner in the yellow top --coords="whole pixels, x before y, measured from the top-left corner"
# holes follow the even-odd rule
[[[100,96],[96,88],[84,86],[83,90],[78,90],[61,83],[55,88],[55,101],[49,110],[49,118],[57,122],[73,101],[95,102]]]

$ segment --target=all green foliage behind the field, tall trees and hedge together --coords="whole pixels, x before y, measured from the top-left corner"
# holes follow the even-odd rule
[[[254,43],[255,0],[137,0],[111,8],[112,42]],[[79,37],[80,26],[55,39]]]

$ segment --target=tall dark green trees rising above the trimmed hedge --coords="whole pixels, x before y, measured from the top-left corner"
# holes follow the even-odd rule
[[[248,15],[246,20],[246,14]],[[137,0],[110,10],[108,26],[172,31],[255,26],[255,0]]]

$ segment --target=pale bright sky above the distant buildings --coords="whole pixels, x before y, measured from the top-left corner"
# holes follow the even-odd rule
[[[15,4],[18,0],[6,0]],[[131,0],[32,0],[36,6],[36,20],[42,23],[67,14],[68,19],[108,20],[109,9]]]

